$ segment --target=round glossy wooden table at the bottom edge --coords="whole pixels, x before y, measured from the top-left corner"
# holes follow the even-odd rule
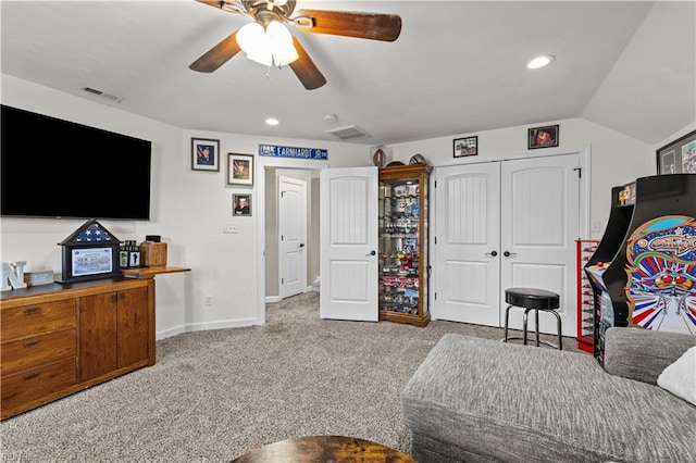
[[[252,450],[233,463],[415,463],[406,453],[370,440],[346,436],[306,436]]]

